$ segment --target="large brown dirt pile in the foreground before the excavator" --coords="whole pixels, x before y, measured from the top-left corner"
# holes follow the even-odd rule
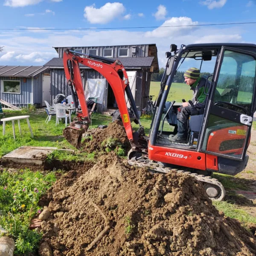
[[[219,214],[189,175],[153,174],[111,152],[62,179],[42,224],[54,256],[256,255],[253,234]]]

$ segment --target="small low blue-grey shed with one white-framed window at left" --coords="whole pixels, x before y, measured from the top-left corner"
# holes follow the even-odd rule
[[[50,100],[49,68],[0,66],[0,99],[19,108],[44,106],[44,100]]]

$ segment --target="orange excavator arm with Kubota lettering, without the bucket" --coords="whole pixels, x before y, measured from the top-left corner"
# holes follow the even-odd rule
[[[80,57],[79,55],[84,55],[84,58]],[[63,63],[67,82],[70,87],[70,92],[73,96],[74,106],[75,108],[78,108],[78,100],[81,105],[81,111],[77,111],[77,119],[75,122],[73,122],[72,125],[70,125],[70,127],[80,129],[84,128],[82,125],[87,125],[90,122],[90,116],[84,96],[84,87],[79,68],[79,64],[83,64],[84,66],[90,67],[98,71],[108,81],[116,98],[116,102],[122,117],[122,122],[128,140],[130,141],[130,143],[135,144],[135,146],[140,148],[141,145],[138,145],[138,141],[142,141],[142,138],[139,139],[139,137],[144,136],[144,128],[141,126],[140,116],[131,93],[128,76],[122,63],[119,60],[104,58],[97,55],[84,54],[81,52],[75,52],[70,49],[64,50]],[[136,133],[133,133],[132,131],[131,120],[125,101],[125,92],[130,102],[131,108],[134,112],[134,115],[136,116],[136,119],[140,124],[140,128]],[[145,147],[147,143],[142,144],[143,147]]]

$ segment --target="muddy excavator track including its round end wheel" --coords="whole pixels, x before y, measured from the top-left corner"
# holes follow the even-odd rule
[[[198,175],[197,173],[191,173],[183,170],[160,166],[158,163],[154,163],[149,159],[145,160],[144,162],[141,162],[136,160],[135,157],[133,157],[131,160],[128,160],[128,163],[131,166],[146,167],[152,172],[169,173],[171,171],[175,171],[178,173],[183,173],[185,175],[193,176],[203,184],[208,197],[212,201],[222,201],[226,195],[224,186],[222,186],[222,184],[217,179],[212,178],[210,176]]]

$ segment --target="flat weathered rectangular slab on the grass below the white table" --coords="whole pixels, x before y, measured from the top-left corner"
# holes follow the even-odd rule
[[[55,147],[22,146],[2,157],[3,162],[28,163],[43,165],[47,155],[54,151]]]

